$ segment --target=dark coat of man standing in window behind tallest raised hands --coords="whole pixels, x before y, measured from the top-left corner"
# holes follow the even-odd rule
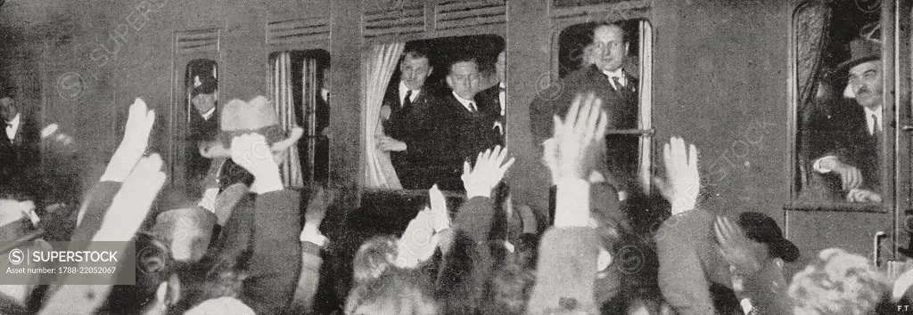
[[[588,93],[603,100],[603,109],[609,117],[609,129],[637,128],[638,81],[633,76],[627,76],[626,80],[628,91],[616,91],[608,76],[598,67],[587,66],[563,78],[558,85],[540,91],[530,104],[530,127],[535,144],[540,145],[552,136],[552,116],[564,117],[571,108],[573,98]],[[611,176],[619,190],[632,191],[636,182],[637,137],[610,135],[608,139],[609,150],[606,152],[607,163],[603,175]]]

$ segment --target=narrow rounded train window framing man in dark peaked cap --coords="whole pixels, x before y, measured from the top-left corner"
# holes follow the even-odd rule
[[[200,155],[199,146],[215,140],[219,133],[218,65],[211,59],[194,59],[187,64],[184,107],[186,141],[177,152],[183,152],[186,171],[184,183],[201,183],[210,167],[210,159]]]

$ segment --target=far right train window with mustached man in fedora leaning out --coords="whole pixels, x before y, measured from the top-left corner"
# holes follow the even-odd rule
[[[893,180],[881,10],[859,3],[802,5],[793,14],[793,205],[880,208]]]

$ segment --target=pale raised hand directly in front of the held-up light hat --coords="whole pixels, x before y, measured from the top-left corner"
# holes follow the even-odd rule
[[[250,190],[262,194],[282,190],[279,166],[262,135],[251,133],[231,141],[231,158],[254,175]]]

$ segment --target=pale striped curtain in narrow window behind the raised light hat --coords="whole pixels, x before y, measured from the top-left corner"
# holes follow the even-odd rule
[[[276,113],[279,117],[279,123],[285,130],[291,130],[291,127],[297,126],[295,118],[295,99],[292,93],[292,69],[291,54],[289,52],[279,53],[272,63],[272,84],[273,106],[276,107]],[[301,162],[299,159],[298,146],[289,147],[284,160],[279,165],[279,173],[282,175],[283,184],[289,188],[304,187],[304,180],[301,176]]]

